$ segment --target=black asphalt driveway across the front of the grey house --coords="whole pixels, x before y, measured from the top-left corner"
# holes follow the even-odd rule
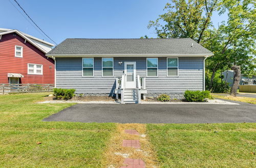
[[[43,121],[113,123],[256,122],[256,105],[76,104]]]

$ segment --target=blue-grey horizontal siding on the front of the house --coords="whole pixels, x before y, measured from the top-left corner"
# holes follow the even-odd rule
[[[119,62],[122,62],[119,65]],[[146,76],[146,58],[114,58],[114,77],[101,76],[101,58],[94,58],[94,77],[82,77],[81,58],[56,58],[56,87],[76,89],[83,94],[111,94],[116,76],[121,76],[124,62],[136,62],[137,75]],[[149,94],[183,93],[203,90],[203,57],[180,57],[179,77],[167,77],[166,58],[158,58],[158,77],[146,77]]]

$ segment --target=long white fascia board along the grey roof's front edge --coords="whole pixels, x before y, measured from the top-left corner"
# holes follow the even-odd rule
[[[152,53],[152,54],[46,54],[47,57],[210,57],[213,53]]]

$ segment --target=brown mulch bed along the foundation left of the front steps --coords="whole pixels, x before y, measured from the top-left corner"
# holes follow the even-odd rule
[[[56,100],[54,96],[45,97],[45,101]],[[75,96],[70,101],[114,101],[114,97],[109,96]]]

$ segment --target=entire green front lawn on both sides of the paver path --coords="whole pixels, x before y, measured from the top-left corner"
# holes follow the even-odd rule
[[[116,124],[42,122],[73,105],[35,103],[48,94],[0,95],[0,167],[104,167]],[[255,123],[146,127],[161,167],[256,166]]]

